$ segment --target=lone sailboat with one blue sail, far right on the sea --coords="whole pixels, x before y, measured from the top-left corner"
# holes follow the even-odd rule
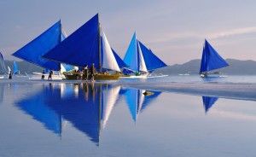
[[[216,70],[222,67],[228,67],[229,64],[224,61],[224,59],[218,55],[218,52],[212,48],[212,45],[205,40],[202,57],[201,57],[201,68],[200,68],[200,76],[207,77],[207,76],[221,76],[219,74],[222,73],[208,73],[212,70]],[[223,75],[224,76],[224,75]]]

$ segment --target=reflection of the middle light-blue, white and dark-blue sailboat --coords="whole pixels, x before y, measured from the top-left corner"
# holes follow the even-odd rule
[[[150,91],[151,92],[151,91]],[[145,90],[126,89],[125,100],[130,109],[132,119],[136,122],[140,113],[152,104],[153,100],[160,96],[160,91],[152,91],[152,95],[144,95]]]

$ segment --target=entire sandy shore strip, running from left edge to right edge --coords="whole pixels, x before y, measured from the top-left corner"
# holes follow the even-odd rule
[[[85,84],[81,80],[32,80],[32,79],[1,79],[0,84]],[[88,82],[88,84],[91,84]],[[190,83],[152,83],[152,82],[112,82],[96,81],[94,84],[120,85],[138,90],[154,90],[193,96],[214,96],[228,99],[256,101],[256,84],[230,83],[230,84],[190,84]]]

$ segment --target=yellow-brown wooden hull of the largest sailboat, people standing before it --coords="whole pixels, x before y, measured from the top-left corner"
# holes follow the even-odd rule
[[[63,73],[67,79],[71,80],[80,80],[83,78],[83,74],[81,73],[73,73],[73,72],[64,72]],[[94,80],[117,80],[120,76],[123,76],[119,73],[114,74],[96,74],[94,76]],[[90,78],[90,77],[89,77]]]

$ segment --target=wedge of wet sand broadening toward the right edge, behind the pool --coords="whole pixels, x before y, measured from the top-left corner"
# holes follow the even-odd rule
[[[256,84],[126,83],[122,85],[143,90],[256,101]]]

